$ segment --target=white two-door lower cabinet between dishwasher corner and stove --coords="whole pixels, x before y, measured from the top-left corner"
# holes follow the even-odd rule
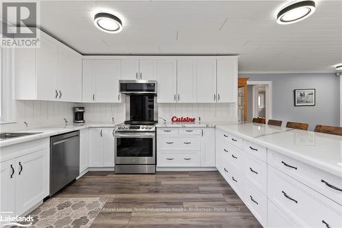
[[[114,128],[89,129],[89,166],[114,167]]]

